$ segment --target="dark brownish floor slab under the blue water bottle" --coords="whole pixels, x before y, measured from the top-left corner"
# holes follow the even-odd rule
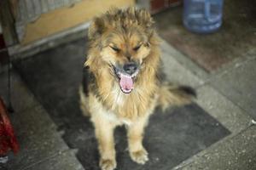
[[[233,59],[256,54],[255,1],[224,1],[223,25],[207,35],[187,31],[183,26],[183,6],[154,15],[156,27],[167,42],[207,71],[217,71]]]

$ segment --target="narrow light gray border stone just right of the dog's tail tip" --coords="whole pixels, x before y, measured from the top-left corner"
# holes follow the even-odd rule
[[[240,133],[252,124],[252,116],[209,85],[197,89],[196,103],[232,134]]]

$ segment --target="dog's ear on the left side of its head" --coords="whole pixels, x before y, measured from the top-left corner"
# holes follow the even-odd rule
[[[91,24],[89,27],[89,31],[88,31],[89,39],[95,39],[101,36],[104,29],[105,29],[104,20],[102,20],[102,18],[96,17],[94,20],[91,21]]]

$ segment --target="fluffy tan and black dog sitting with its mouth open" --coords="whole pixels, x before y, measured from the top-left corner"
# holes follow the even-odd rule
[[[191,88],[163,81],[153,23],[146,10],[113,8],[90,25],[80,100],[95,126],[102,170],[116,167],[116,126],[126,125],[131,159],[144,164],[143,129],[154,108],[186,104],[194,95]]]

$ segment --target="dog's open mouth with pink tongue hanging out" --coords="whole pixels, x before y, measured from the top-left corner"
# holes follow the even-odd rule
[[[113,68],[116,76],[119,79],[119,86],[122,92],[125,94],[130,94],[134,88],[134,80],[135,77],[137,76],[138,71],[134,72],[132,75],[128,75],[125,72],[119,71],[115,67]]]

